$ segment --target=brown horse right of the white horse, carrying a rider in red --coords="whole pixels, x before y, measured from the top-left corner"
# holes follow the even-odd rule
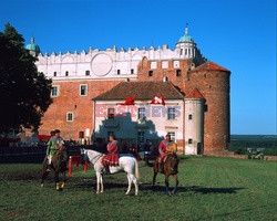
[[[166,194],[175,193],[177,186],[178,186],[178,176],[177,176],[178,157],[177,155],[176,154],[167,155],[163,167],[164,167],[163,173],[165,176]],[[155,188],[157,172],[158,172],[158,158],[156,158],[156,161],[154,162],[153,189]],[[168,187],[170,187],[168,178],[171,175],[175,178],[175,187],[172,192],[168,191]]]

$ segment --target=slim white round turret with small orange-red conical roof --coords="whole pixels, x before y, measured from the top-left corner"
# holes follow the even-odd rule
[[[185,155],[203,154],[205,98],[197,88],[185,97]]]

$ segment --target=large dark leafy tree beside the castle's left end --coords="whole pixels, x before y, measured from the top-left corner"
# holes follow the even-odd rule
[[[9,23],[0,32],[0,134],[37,130],[52,103],[52,81],[38,72],[37,59]]]

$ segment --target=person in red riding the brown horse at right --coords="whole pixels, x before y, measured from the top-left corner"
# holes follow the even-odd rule
[[[177,152],[177,145],[171,140],[171,135],[166,135],[165,139],[158,145],[158,171],[163,172],[165,156]]]

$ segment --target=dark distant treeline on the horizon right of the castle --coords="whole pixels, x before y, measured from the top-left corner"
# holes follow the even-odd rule
[[[247,154],[247,148],[265,148],[264,155],[277,155],[276,135],[232,135],[229,150]]]

